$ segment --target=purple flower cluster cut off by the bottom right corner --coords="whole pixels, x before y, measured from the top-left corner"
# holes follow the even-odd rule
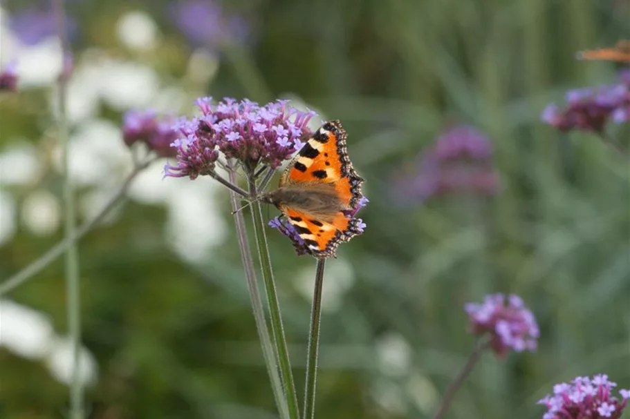
[[[555,384],[553,395],[538,402],[548,409],[543,419],[618,419],[627,406],[630,390],[620,390],[619,400],[612,394],[616,386],[606,374]]]

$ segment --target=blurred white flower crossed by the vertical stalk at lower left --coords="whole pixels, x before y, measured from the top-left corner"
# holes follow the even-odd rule
[[[68,338],[57,338],[51,345],[46,358],[50,374],[64,384],[70,384],[73,378],[73,347]],[[79,350],[79,379],[83,384],[93,384],[98,375],[98,365],[94,355],[84,347]]]

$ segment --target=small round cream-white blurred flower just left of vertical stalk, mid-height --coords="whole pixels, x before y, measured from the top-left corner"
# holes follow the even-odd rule
[[[21,206],[22,221],[37,235],[49,235],[59,228],[61,207],[52,193],[39,190],[24,199]]]

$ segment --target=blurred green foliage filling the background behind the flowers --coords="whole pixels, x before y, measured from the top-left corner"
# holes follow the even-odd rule
[[[170,81],[185,72],[191,48],[167,3],[68,3],[86,28],[77,57],[95,47],[138,59]],[[120,46],[114,27],[127,10],[156,19],[163,31],[156,50],[138,55]],[[627,160],[594,135],[561,137],[539,121],[564,90],[613,81],[613,65],[573,56],[627,37],[629,3],[277,0],[230,3],[230,10],[250,19],[254,40],[221,52],[218,74],[198,95],[268,101],[293,93],[343,121],[355,168],[367,179],[367,231],[340,249],[355,282],[322,318],[318,418],[430,417],[474,344],[463,304],[497,292],[518,293],[530,306],[539,349],[506,360],[485,355],[448,418],[539,418],[535,401],[577,375],[608,373],[630,387]],[[34,90],[2,97],[0,145],[26,139],[50,147],[46,100]],[[120,123],[114,110],[102,115]],[[483,201],[397,206],[393,175],[450,121],[488,133],[503,191]],[[627,147],[628,132],[613,134]],[[61,196],[59,175],[41,165],[50,172],[41,184],[9,188],[18,203],[36,188]],[[227,193],[216,199],[229,222]],[[276,417],[232,226],[225,243],[193,265],[169,250],[165,222],[160,206],[130,202],[80,244],[83,340],[99,366],[86,393],[90,417]],[[315,261],[269,235],[301,394],[310,302],[295,273]],[[19,226],[0,247],[0,276],[61,238]],[[61,261],[10,298],[66,330]],[[377,342],[392,334],[412,350],[404,373],[379,367]],[[66,416],[68,391],[41,364],[0,348],[0,371],[2,418]]]

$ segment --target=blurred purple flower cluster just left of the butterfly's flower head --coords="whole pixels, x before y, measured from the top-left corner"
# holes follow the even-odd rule
[[[177,135],[172,119],[160,119],[153,110],[130,110],[124,114],[122,138],[127,146],[140,142],[160,157],[175,157],[171,144]]]

